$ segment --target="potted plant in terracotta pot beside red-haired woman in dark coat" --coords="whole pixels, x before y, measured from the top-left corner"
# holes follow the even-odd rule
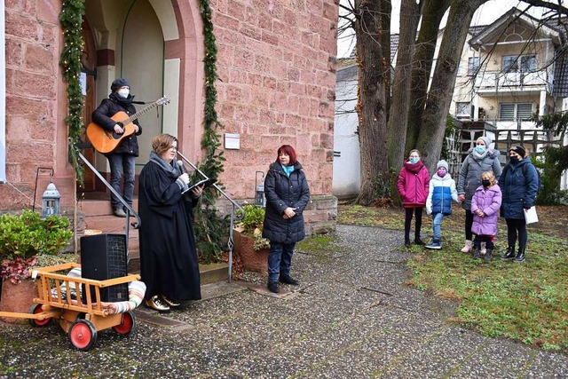
[[[270,241],[263,238],[264,208],[248,204],[245,215],[234,230],[234,250],[246,270],[268,270]]]

